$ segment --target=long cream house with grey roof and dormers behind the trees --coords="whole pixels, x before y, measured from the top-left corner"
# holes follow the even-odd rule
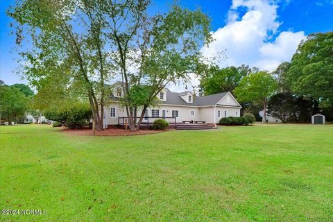
[[[119,105],[119,98],[123,96],[122,88],[115,87],[108,108],[105,108],[105,127],[117,125],[119,117],[127,117],[126,110]],[[146,117],[176,117],[176,121],[205,121],[219,123],[223,117],[239,117],[241,105],[230,92],[222,92],[209,96],[196,96],[193,92],[171,92],[164,89],[157,96],[160,104],[146,110]],[[141,112],[138,112],[138,116]],[[174,121],[174,119],[167,119]]]

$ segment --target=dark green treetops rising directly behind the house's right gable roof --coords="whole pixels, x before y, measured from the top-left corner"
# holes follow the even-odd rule
[[[220,92],[232,92],[240,83],[241,79],[250,75],[256,68],[250,69],[248,66],[219,68],[210,67],[207,74],[200,80],[200,86],[205,95]]]

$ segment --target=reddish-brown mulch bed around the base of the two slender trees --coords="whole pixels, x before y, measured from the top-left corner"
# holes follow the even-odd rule
[[[139,131],[130,131],[124,130],[121,128],[106,128],[103,131],[96,131],[95,136],[133,136],[133,135],[146,135],[146,134],[155,134],[155,133],[163,133],[170,130],[139,130]],[[83,129],[69,129],[63,128],[61,132],[68,133],[71,135],[84,135],[84,136],[94,136],[92,134],[92,129],[83,128]]]

